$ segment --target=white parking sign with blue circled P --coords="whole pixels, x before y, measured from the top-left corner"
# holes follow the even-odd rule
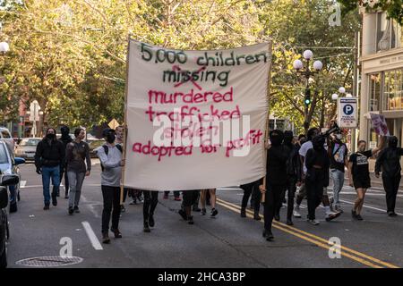
[[[357,128],[358,98],[341,97],[338,99],[338,125],[340,128]]]

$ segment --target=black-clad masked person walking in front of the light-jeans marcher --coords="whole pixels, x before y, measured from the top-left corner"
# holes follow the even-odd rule
[[[329,186],[330,159],[328,152],[323,147],[325,138],[317,135],[313,138],[313,148],[306,153],[305,187],[308,198],[308,223],[318,225],[315,220],[316,208],[321,204],[323,188]]]

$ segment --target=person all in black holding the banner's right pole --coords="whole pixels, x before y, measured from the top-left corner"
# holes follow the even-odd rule
[[[266,188],[263,179],[259,189],[266,194],[264,201],[264,230],[263,237],[271,241],[274,236],[271,232],[271,224],[276,209],[281,207],[282,194],[287,188],[287,147],[282,145],[284,133],[281,130],[270,131],[270,146],[267,150],[266,161]]]

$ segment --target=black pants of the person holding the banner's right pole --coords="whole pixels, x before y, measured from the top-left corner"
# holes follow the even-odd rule
[[[264,229],[271,231],[274,213],[282,204],[281,195],[286,189],[286,185],[273,185],[268,182],[266,189],[266,198],[264,201]]]

